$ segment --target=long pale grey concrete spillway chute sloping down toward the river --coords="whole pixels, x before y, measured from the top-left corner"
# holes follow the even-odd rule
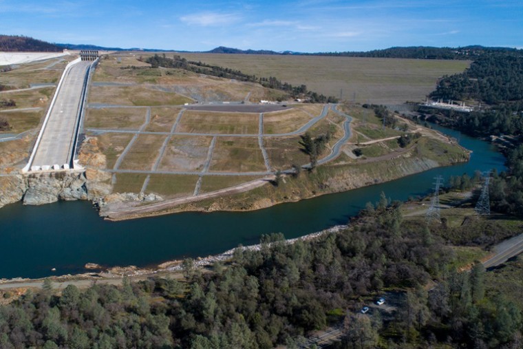
[[[80,61],[65,73],[31,166],[71,165],[81,97],[91,64]]]

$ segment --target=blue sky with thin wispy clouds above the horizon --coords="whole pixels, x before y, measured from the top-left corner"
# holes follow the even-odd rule
[[[0,0],[0,34],[109,47],[523,48],[522,0]]]

